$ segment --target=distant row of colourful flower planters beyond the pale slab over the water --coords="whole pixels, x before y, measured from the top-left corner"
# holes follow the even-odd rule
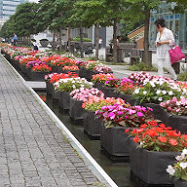
[[[33,81],[44,81],[44,76],[52,72],[74,72],[88,81],[94,74],[112,73],[111,68],[99,62],[80,61],[40,51],[33,52],[31,49],[23,47],[5,45],[1,52],[14,66],[21,69]]]

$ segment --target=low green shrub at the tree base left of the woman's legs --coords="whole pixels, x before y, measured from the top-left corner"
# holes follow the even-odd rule
[[[131,71],[157,71],[157,68],[152,65],[147,65],[144,62],[139,64],[129,66],[128,68]]]

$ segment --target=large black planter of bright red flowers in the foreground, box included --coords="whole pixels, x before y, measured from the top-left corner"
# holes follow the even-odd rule
[[[130,134],[134,136],[130,145],[132,173],[149,185],[173,184],[166,168],[186,147],[186,135],[156,121],[149,121]]]

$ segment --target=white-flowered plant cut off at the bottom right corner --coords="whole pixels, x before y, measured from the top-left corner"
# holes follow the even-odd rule
[[[187,149],[185,148],[181,155],[175,157],[177,162],[174,166],[168,165],[166,171],[171,177],[175,177],[174,187],[186,187],[187,186]]]

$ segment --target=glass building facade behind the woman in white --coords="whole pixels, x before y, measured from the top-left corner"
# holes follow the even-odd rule
[[[173,14],[171,9],[175,4],[162,4],[159,9],[152,11],[150,19],[150,48],[155,48],[156,29],[154,22],[158,18],[164,18],[166,27],[173,31],[175,43],[179,45],[183,51],[187,51],[187,10],[183,14]]]

